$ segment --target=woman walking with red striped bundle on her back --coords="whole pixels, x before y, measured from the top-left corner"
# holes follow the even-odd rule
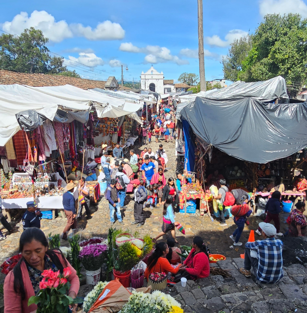
[[[248,205],[248,196],[245,194],[231,207],[231,214],[234,216],[234,223],[237,225],[237,229],[229,236],[234,241],[234,246],[242,246],[242,242],[239,242],[239,239],[243,232],[246,218],[251,213],[252,210]]]

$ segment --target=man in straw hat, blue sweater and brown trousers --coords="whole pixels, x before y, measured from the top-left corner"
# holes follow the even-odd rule
[[[63,230],[62,239],[67,239],[67,232],[71,229],[77,228],[77,220],[76,220],[76,206],[75,206],[75,198],[73,196],[74,190],[73,182],[70,182],[66,185],[66,192],[63,194],[63,207],[64,212],[67,217],[67,224]]]

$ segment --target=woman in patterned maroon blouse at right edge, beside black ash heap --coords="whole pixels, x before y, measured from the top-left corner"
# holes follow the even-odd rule
[[[299,201],[295,204],[295,209],[290,214],[289,236],[305,236],[307,219],[303,214],[305,211],[305,202]]]

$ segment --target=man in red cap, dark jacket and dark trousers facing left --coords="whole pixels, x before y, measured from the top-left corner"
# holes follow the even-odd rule
[[[143,206],[147,200],[147,189],[144,187],[143,180],[134,179],[130,183],[133,184],[134,189],[134,222],[131,225],[136,225],[136,227],[142,227],[145,223]]]

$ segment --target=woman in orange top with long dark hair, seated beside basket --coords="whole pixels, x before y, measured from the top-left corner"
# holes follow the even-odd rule
[[[161,272],[167,275],[168,272],[172,274],[177,274],[182,264],[179,264],[176,268],[173,268],[169,264],[166,255],[169,253],[169,247],[165,242],[159,242],[156,244],[156,248],[148,258],[147,268],[145,269],[145,277],[148,280],[148,276],[151,273]]]

